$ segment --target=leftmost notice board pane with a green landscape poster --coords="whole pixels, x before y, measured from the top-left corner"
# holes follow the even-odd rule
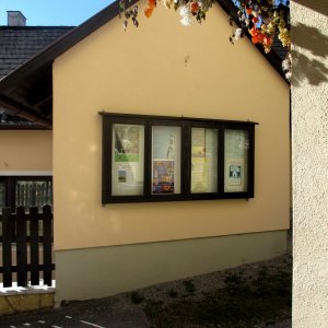
[[[144,126],[113,125],[112,195],[143,195]]]

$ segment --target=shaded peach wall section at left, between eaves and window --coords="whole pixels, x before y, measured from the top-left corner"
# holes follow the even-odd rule
[[[0,130],[0,175],[51,174],[52,131]]]

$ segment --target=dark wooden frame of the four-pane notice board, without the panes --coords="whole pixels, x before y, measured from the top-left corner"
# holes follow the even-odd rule
[[[254,121],[203,119],[172,116],[151,116],[133,114],[99,113],[103,116],[103,171],[102,171],[102,203],[125,202],[161,202],[161,201],[187,201],[211,199],[248,199],[254,198],[255,179],[255,126]],[[144,126],[144,167],[143,167],[143,194],[140,196],[113,196],[112,195],[112,142],[113,125],[142,125]],[[152,195],[152,127],[177,126],[181,127],[180,149],[180,194]],[[214,128],[218,129],[218,192],[191,194],[191,129]],[[247,191],[224,191],[224,130],[246,130],[249,138],[247,159]]]

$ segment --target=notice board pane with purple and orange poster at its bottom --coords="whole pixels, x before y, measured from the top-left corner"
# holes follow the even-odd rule
[[[181,128],[152,127],[152,195],[181,192]]]

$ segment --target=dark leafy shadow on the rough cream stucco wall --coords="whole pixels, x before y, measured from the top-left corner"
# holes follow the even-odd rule
[[[297,67],[293,71],[293,86],[302,85],[305,80],[312,85],[327,82],[328,66],[325,62],[328,62],[328,36],[315,27],[298,23],[292,26],[292,43],[293,66]]]

